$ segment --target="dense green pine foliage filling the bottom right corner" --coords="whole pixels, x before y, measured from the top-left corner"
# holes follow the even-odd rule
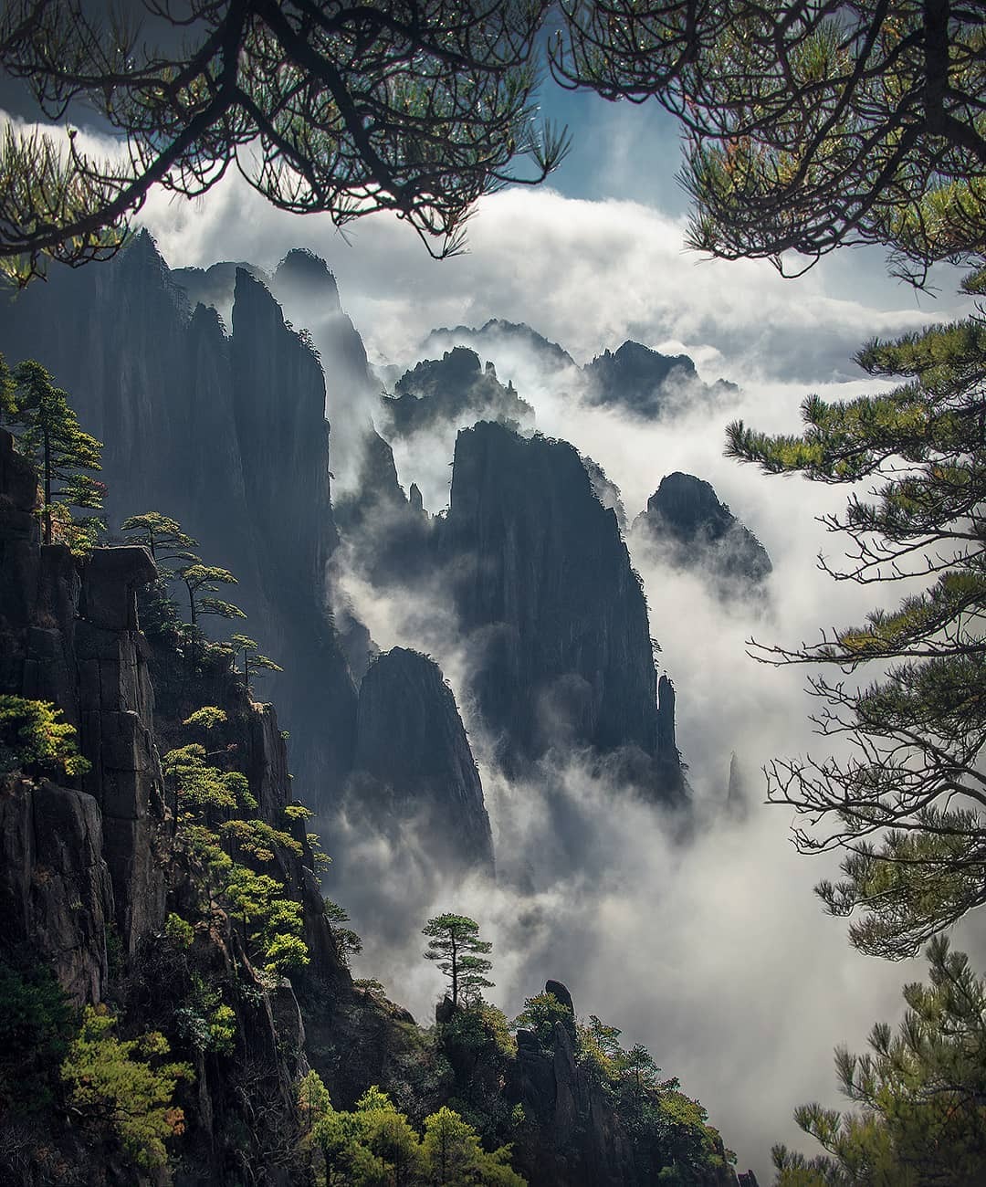
[[[895,1035],[870,1034],[870,1053],[835,1052],[850,1112],[802,1105],[795,1121],[825,1154],[776,1145],[777,1187],[968,1187],[986,1181],[986,983],[943,937],[927,950],[929,984],[904,988]]]

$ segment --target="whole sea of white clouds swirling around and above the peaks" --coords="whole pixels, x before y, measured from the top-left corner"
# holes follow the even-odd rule
[[[374,589],[343,566],[344,592],[375,641],[431,652],[457,692],[483,775],[498,878],[447,884],[422,858],[413,827],[396,844],[354,827],[329,842],[346,848],[349,872],[345,884],[326,889],[363,931],[357,972],[383,979],[424,1022],[440,984],[421,959],[420,926],[439,910],[473,915],[495,945],[490,996],[508,1015],[546,977],[562,979],[581,1013],[621,1027],[628,1043],[647,1043],[664,1073],[702,1100],[740,1167],[768,1181],[772,1142],[809,1145],[793,1106],[838,1102],[832,1048],[861,1049],[873,1021],[899,1017],[901,984],[918,965],[848,947],[845,925],[825,916],[812,894],[835,861],[799,856],[790,813],[758,802],[761,764],[826,743],[807,721],[803,671],[756,664],[746,641],[814,640],[820,628],[857,621],[874,597],[886,603],[899,591],[874,594],[820,573],[816,553],[838,558],[840,541],[816,516],[838,510],[846,491],[766,478],[725,459],[724,425],[743,418],[795,431],[809,391],[840,399],[872,386],[851,362],[864,341],[942,312],[918,307],[907,292],[897,307],[867,305],[845,269],[785,281],[766,264],[699,261],[682,247],[680,220],[630,201],[545,189],[484,199],[469,254],[440,264],[390,218],[361,222],[345,242],[327,220],[281,215],[235,179],[198,204],[154,196],[141,217],[172,267],[220,259],[271,267],[295,246],[325,256],[377,363],[411,364],[435,326],[504,317],[528,322],[579,363],[635,338],[688,353],[707,382],[723,376],[740,386],[733,407],[641,423],[566,398],[566,386],[522,353],[495,358],[501,380],[513,379],[534,404],[541,431],[604,466],[631,520],[661,477],[680,469],[712,482],[770,552],[766,609],[724,603],[701,573],[634,556],[662,668],[678,690],[678,742],[702,821],[695,838],[674,843],[660,813],[621,798],[578,761],[555,762],[540,779],[505,780],[471,718],[470,656],[440,596]],[[312,325],[318,317],[310,311]],[[326,377],[331,420],[373,414],[371,401],[354,406]],[[447,502],[451,437],[395,449],[401,482],[418,482],[433,513]],[[732,753],[755,801],[743,823],[718,811]]]

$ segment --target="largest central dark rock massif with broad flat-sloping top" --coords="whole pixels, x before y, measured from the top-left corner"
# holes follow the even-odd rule
[[[490,423],[460,432],[441,547],[502,761],[636,753],[670,762],[673,798],[643,590],[577,451]]]

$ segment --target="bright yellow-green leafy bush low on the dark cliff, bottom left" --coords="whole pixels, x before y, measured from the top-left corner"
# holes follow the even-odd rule
[[[87,1007],[82,1028],[62,1065],[69,1100],[95,1130],[116,1137],[148,1169],[167,1162],[165,1142],[182,1134],[184,1115],[173,1105],[187,1064],[168,1064],[168,1045],[155,1030],[121,1040],[104,1005]]]

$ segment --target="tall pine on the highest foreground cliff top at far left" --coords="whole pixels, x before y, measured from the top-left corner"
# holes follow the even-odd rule
[[[31,360],[14,369],[11,420],[18,447],[38,470],[44,542],[56,535],[72,551],[85,551],[104,528],[98,516],[72,516],[71,508],[98,510],[106,490],[88,472],[100,470],[102,445],[84,433],[68,395]]]

